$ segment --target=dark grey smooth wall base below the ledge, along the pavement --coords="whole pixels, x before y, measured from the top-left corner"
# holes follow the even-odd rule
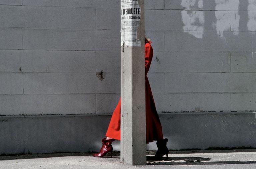
[[[256,147],[255,113],[160,114],[167,147]],[[242,119],[242,120],[241,120]],[[109,115],[0,117],[0,154],[99,151]],[[120,150],[120,141],[113,142]],[[147,149],[157,149],[150,143]]]

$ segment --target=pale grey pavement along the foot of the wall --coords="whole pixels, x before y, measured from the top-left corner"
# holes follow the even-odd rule
[[[150,153],[150,152],[149,152]],[[153,154],[154,152],[151,152]],[[58,154],[28,154],[16,156],[0,156],[1,169],[108,169],[108,168],[173,168],[173,169],[255,169],[256,149],[253,150],[214,150],[214,151],[170,151],[168,160],[152,159],[147,155],[147,166],[131,166],[120,162],[120,154],[115,152],[113,158],[92,157],[91,153],[58,153]]]

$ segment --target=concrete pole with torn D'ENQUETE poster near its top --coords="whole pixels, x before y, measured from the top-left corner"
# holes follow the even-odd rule
[[[146,165],[144,0],[121,0],[121,161]]]

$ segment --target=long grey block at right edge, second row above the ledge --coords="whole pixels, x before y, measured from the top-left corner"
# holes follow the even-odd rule
[[[256,73],[166,73],[166,92],[255,92]]]

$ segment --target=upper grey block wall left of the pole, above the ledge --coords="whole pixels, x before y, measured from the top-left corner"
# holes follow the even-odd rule
[[[120,95],[119,1],[0,4],[0,115],[112,112]]]

